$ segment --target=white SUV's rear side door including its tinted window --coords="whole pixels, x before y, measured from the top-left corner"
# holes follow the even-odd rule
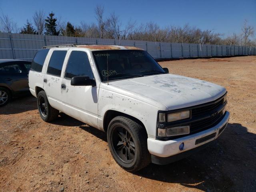
[[[44,90],[53,108],[62,110],[62,66],[67,50],[53,50],[44,74]]]

